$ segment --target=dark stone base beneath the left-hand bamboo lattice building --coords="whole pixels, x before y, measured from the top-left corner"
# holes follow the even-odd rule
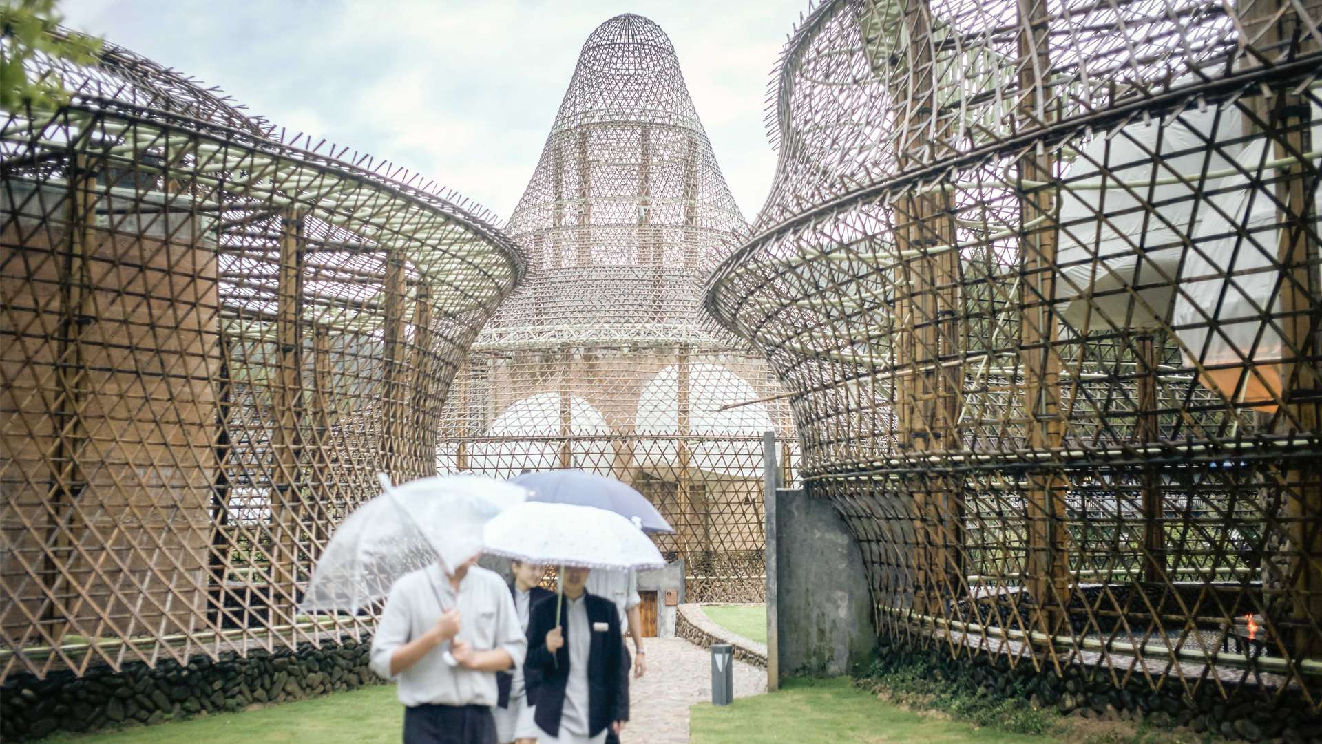
[[[132,662],[120,671],[91,667],[83,677],[56,671],[45,679],[9,677],[0,687],[0,741],[30,741],[56,731],[97,731],[233,712],[254,703],[283,703],[327,692],[378,685],[368,669],[369,644],[303,644],[274,654],[196,655],[186,666],[173,659],[149,669]]]

